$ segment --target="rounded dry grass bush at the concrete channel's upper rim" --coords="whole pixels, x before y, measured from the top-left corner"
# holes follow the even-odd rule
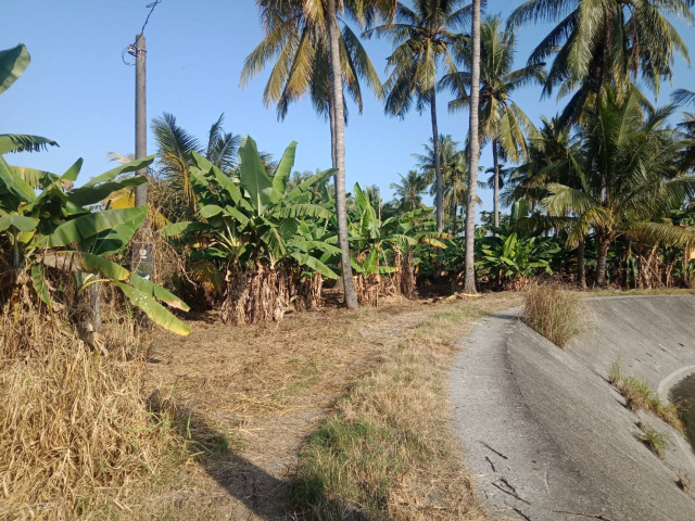
[[[561,284],[531,284],[525,298],[523,319],[555,345],[565,347],[581,331],[584,309]]]

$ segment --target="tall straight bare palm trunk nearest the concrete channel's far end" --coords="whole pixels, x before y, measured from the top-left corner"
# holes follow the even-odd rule
[[[473,247],[476,245],[476,189],[478,188],[478,161],[480,141],[478,140],[478,102],[480,97],[480,0],[473,0],[473,20],[471,30],[473,55],[470,82],[470,163],[468,171],[468,201],[466,204],[466,257],[464,264],[464,292],[477,293]]]

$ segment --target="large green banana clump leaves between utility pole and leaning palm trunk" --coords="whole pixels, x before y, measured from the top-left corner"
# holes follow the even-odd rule
[[[193,153],[191,183],[199,204],[197,221],[165,227],[165,237],[192,242],[192,258],[239,265],[250,269],[258,263],[274,268],[292,259],[308,272],[337,279],[325,260],[340,250],[311,234],[311,227],[331,217],[314,202],[312,188],[329,179],[334,169],[316,174],[288,189],[296,143],[285,151],[273,176],[268,176],[255,141],[247,138],[239,149],[239,176],[230,177]]]

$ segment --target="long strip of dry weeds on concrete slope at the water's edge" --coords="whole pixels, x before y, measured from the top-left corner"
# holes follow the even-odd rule
[[[664,404],[661,398],[649,387],[649,384],[635,377],[624,374],[620,360],[617,359],[610,366],[608,381],[626,398],[626,407],[633,412],[647,410],[679,432],[683,432],[683,423],[679,417],[675,404]]]

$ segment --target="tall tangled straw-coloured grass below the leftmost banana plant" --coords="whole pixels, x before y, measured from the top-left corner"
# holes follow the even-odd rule
[[[129,488],[180,446],[141,396],[147,336],[112,310],[94,348],[25,302],[0,317],[0,519],[127,518]]]

